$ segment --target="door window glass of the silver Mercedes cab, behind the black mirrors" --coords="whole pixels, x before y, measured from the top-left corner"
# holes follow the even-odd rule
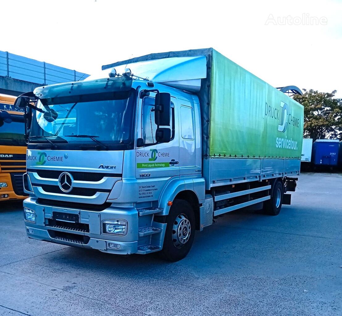
[[[154,122],[154,97],[145,97],[142,108],[142,139],[145,144],[154,144],[156,142],[157,125]],[[171,102],[170,128],[172,131],[171,140],[174,138],[174,105]],[[169,127],[169,126],[168,126]]]

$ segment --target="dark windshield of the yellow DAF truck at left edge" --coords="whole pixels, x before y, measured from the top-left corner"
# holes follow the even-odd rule
[[[0,110],[0,145],[26,146],[24,117]]]

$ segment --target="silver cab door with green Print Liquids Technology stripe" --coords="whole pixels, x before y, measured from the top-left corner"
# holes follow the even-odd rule
[[[152,94],[152,93],[151,93]],[[162,188],[172,177],[180,176],[179,163],[179,113],[177,99],[171,96],[171,141],[156,142],[157,125],[154,120],[155,96],[145,96],[139,106],[140,122],[137,124],[137,139],[144,140],[143,147],[136,148],[136,179],[139,201],[157,200]],[[148,145],[153,144],[153,145]]]

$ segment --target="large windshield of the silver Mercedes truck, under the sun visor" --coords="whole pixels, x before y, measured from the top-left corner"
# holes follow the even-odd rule
[[[108,96],[104,100],[101,94],[85,100],[80,97],[76,101],[73,99],[73,102],[67,99],[63,99],[62,103],[50,99],[38,100],[37,107],[41,111],[34,112],[29,142],[129,144],[135,108],[133,91],[117,96],[112,93],[110,100]]]

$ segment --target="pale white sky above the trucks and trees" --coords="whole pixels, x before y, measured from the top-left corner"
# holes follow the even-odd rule
[[[274,87],[342,97],[342,0],[0,0],[0,8],[0,50],[57,66],[93,74],[130,57],[213,47]]]

